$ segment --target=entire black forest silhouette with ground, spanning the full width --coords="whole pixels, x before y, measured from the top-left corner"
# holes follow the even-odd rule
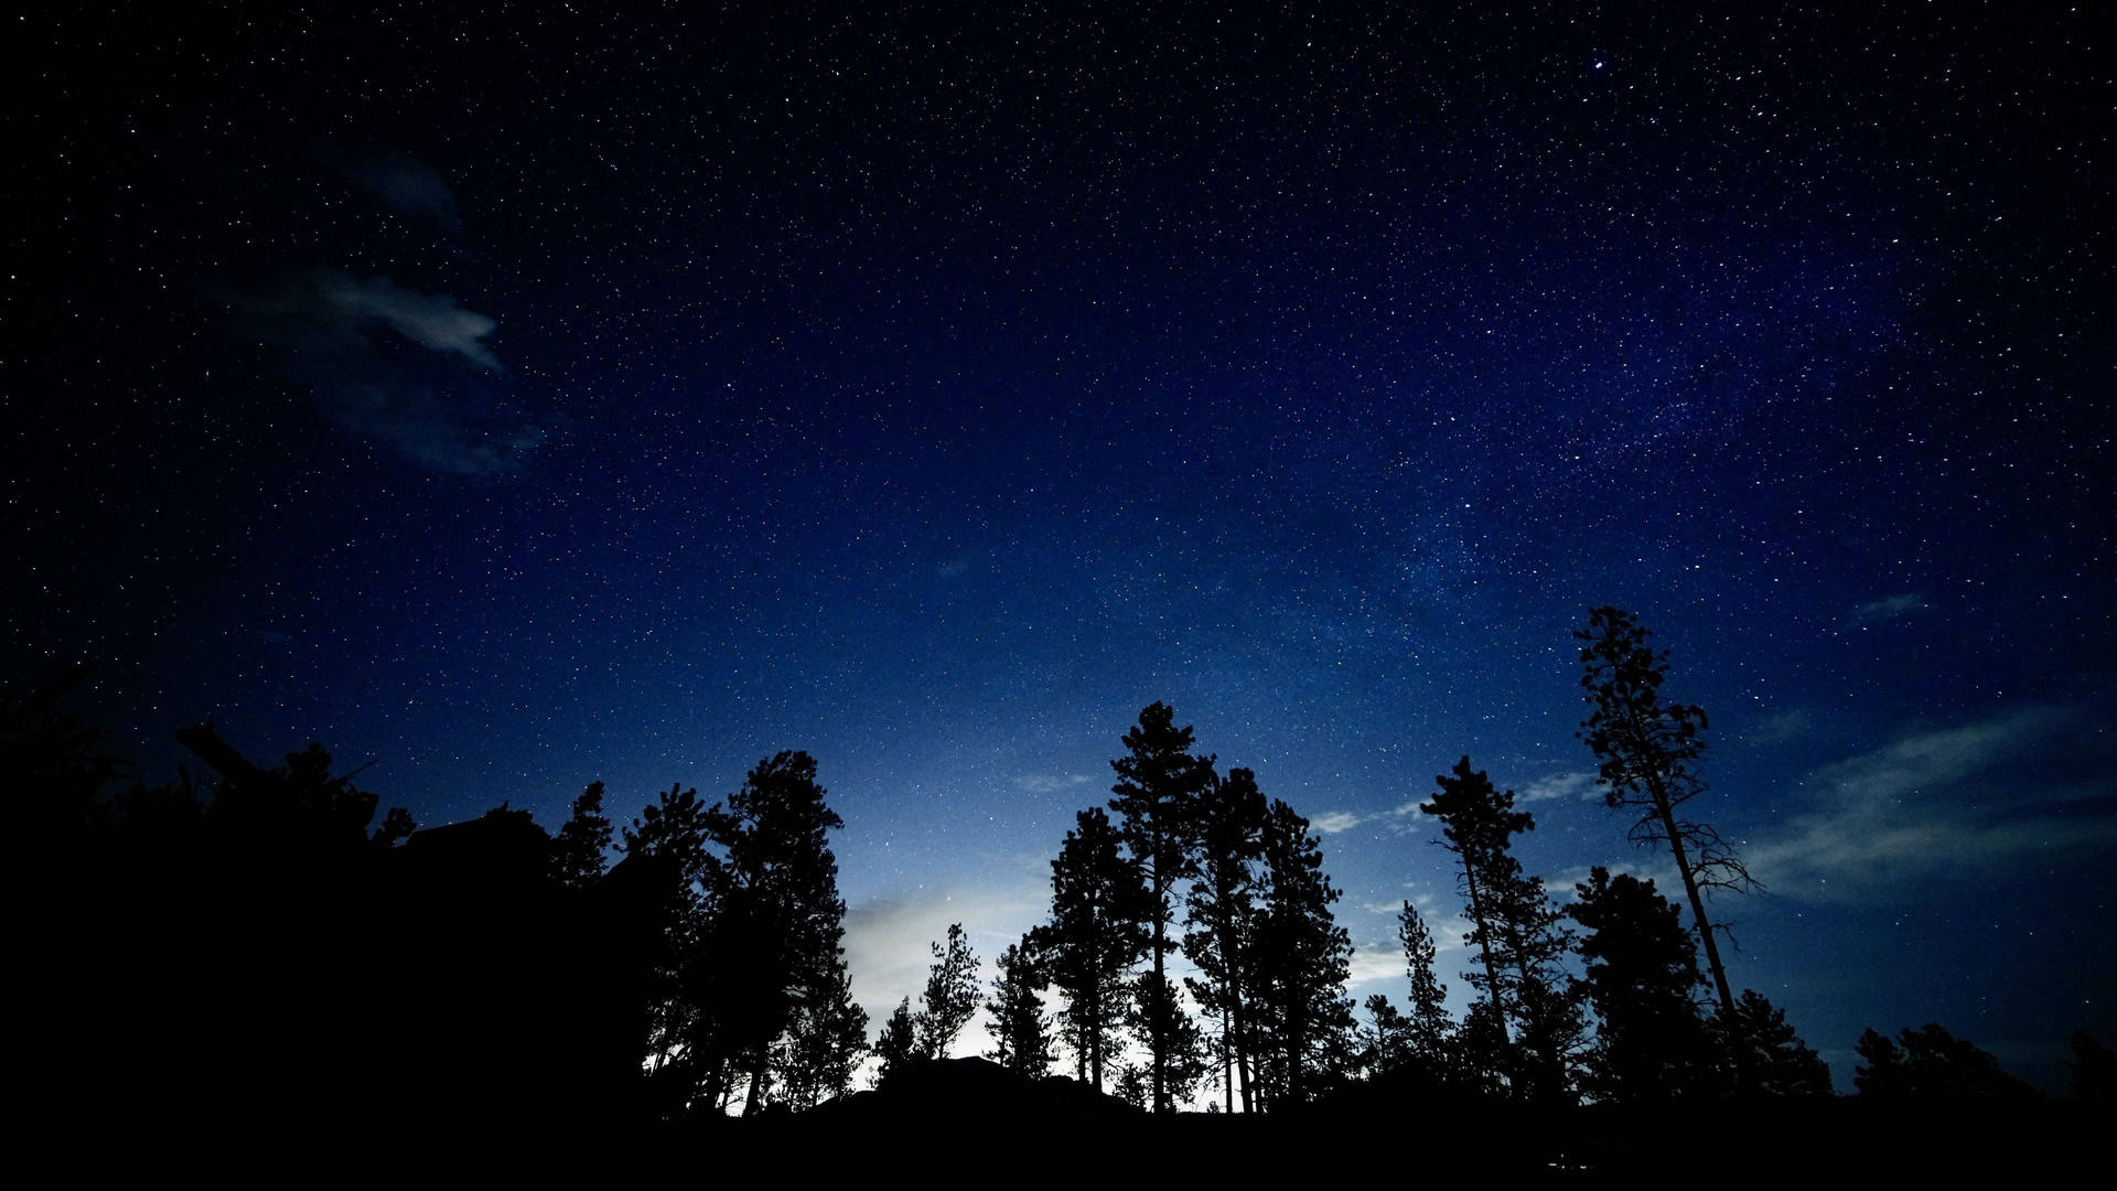
[[[1046,920],[991,985],[955,924],[917,1005],[870,1021],[843,947],[843,822],[804,752],[625,822],[597,782],[553,829],[508,805],[419,826],[377,818],[322,746],[265,767],[212,725],[178,733],[203,771],[146,784],[68,710],[80,665],[0,695],[0,771],[36,852],[42,1113],[155,1153],[622,1140],[639,1170],[946,1140],[1061,1170],[1298,1172],[1355,1130],[1416,1149],[1391,1161],[1522,1176],[2085,1153],[2113,1098],[2087,1034],[2070,1102],[1935,1024],[1867,1030],[1857,1094],[1833,1094],[1713,943],[1700,890],[1749,873],[1698,818],[1704,712],[1662,697],[1666,657],[1628,612],[1575,636],[1607,803],[1672,854],[1685,901],[1594,869],[1560,907],[1514,856],[1533,816],[1459,759],[1421,812],[1469,924],[1461,1019],[1408,901],[1408,1011],[1355,1007],[1319,835],[1164,704],[1122,737],[1109,803],[1078,814]],[[989,1036],[961,1055],[980,1007]],[[1979,1127],[1935,1132],[1956,1119]]]

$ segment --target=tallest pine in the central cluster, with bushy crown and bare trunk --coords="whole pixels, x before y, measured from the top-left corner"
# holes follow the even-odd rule
[[[1139,712],[1139,725],[1124,733],[1126,754],[1109,763],[1118,782],[1109,788],[1111,814],[1126,850],[1139,863],[1147,884],[1147,952],[1154,977],[1147,988],[1169,979],[1169,926],[1175,920],[1177,882],[1190,875],[1192,835],[1198,795],[1213,780],[1213,759],[1192,757],[1192,729],[1175,727],[1166,704],[1150,704]],[[1173,1108],[1169,1089],[1169,1053],[1175,1017],[1154,1011],[1147,1021],[1150,1085],[1154,1110]]]

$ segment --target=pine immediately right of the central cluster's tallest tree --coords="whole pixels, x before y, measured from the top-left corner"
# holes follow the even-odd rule
[[[1198,877],[1186,899],[1183,956],[1198,968],[1183,977],[1200,1011],[1219,1021],[1215,1053],[1222,1096],[1234,1113],[1241,1083],[1243,1110],[1255,1110],[1249,1070],[1249,977],[1257,932],[1257,863],[1270,812],[1249,769],[1230,769],[1207,788],[1198,805]]]

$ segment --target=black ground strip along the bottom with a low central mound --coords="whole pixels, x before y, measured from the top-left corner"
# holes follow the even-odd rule
[[[982,1060],[809,1113],[641,1123],[591,1106],[502,1115],[474,1104],[411,1119],[387,1089],[366,1108],[309,1119],[294,1104],[199,1113],[201,1104],[110,1104],[93,1121],[32,1134],[61,1168],[102,1176],[201,1172],[241,1183],[455,1174],[593,1178],[597,1185],[768,1178],[830,1185],[902,1176],[1107,1185],[1215,1180],[1306,1187],[1370,1180],[1840,1185],[1850,1178],[2043,1178],[2109,1174],[2106,1106],[1895,1104],[1859,1098],[1774,1104],[1531,1108],[1340,1096],[1302,1113],[1150,1117],[1069,1081],[1027,1083]],[[402,1089],[402,1102],[417,1102]],[[174,1127],[184,1121],[184,1127]],[[85,1127],[87,1125],[87,1127]]]

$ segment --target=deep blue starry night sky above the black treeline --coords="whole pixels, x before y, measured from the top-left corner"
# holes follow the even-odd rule
[[[1842,1089],[2117,1043],[2098,4],[286,8],[6,30],[0,678],[95,659],[142,776],[557,826],[802,748],[879,1019],[1162,699],[1461,1009],[1459,757],[1670,888],[1573,735],[1620,604]]]

